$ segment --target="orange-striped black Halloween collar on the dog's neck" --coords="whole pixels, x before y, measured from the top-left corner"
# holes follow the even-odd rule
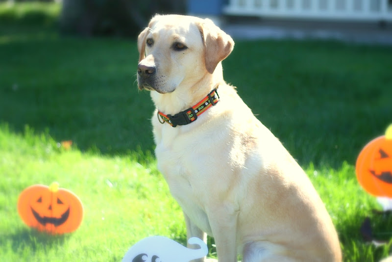
[[[161,111],[158,111],[158,120],[161,124],[165,122],[171,125],[173,128],[176,126],[188,125],[194,122],[199,115],[204,113],[208,108],[216,105],[219,101],[219,95],[217,91],[218,87],[213,89],[205,98],[203,98],[196,105],[176,113],[175,115],[165,115]],[[162,121],[161,121],[162,119]]]

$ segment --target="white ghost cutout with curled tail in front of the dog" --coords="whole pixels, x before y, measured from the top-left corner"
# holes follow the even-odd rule
[[[190,249],[168,237],[150,236],[129,248],[122,262],[189,262],[207,255],[208,247],[200,238],[191,237],[188,243],[200,248]]]

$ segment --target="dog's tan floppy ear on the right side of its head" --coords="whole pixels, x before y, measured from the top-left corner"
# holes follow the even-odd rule
[[[212,74],[218,63],[233,51],[234,41],[210,19],[204,19],[198,28],[204,44],[205,67]]]

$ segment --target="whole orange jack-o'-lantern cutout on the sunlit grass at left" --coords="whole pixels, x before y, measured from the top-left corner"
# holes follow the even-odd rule
[[[19,195],[18,212],[29,227],[50,234],[75,231],[83,218],[83,206],[73,192],[59,188],[58,183],[49,186],[35,184]]]

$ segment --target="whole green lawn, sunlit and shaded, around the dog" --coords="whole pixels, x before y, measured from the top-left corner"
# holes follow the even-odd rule
[[[132,244],[151,235],[184,244],[181,210],[155,166],[153,105],[135,83],[136,39],[59,36],[52,22],[58,8],[43,5],[44,15],[28,16],[24,5],[5,5],[0,4],[2,261],[120,261]],[[245,103],[311,178],[339,232],[344,261],[386,257],[391,245],[367,243],[360,226],[370,216],[375,237],[388,242],[392,218],[372,212],[380,207],[358,185],[354,165],[361,148],[392,123],[392,47],[236,41],[223,67],[226,81],[238,86]],[[58,147],[64,140],[73,141],[70,150]],[[36,232],[17,213],[25,187],[53,181],[83,202],[83,222],[72,234]]]

